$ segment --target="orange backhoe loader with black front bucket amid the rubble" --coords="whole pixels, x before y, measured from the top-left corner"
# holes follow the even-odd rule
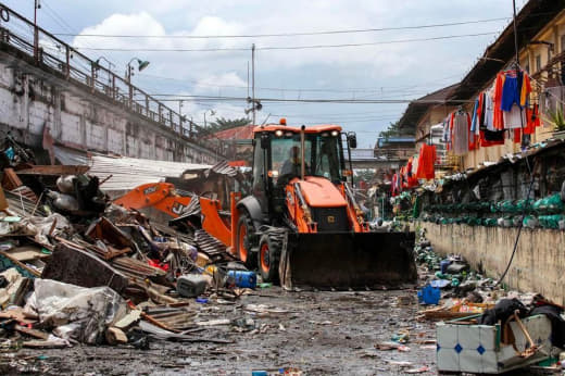
[[[253,133],[251,193],[231,192],[230,217],[222,215],[217,200],[200,197],[202,228],[249,268],[259,268],[264,280],[280,280],[287,289],[416,281],[414,233],[371,231],[347,181],[352,171],[343,141],[348,151],[355,148],[354,134],[337,125],[286,122]],[[175,201],[167,202],[162,205],[173,211]]]

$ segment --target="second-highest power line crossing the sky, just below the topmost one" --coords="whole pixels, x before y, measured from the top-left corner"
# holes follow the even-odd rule
[[[366,46],[378,46],[378,45],[393,45],[393,43],[409,43],[415,41],[430,41],[430,40],[444,40],[455,39],[465,37],[479,37],[486,35],[495,35],[498,32],[488,33],[476,33],[476,34],[461,34],[461,35],[448,35],[431,38],[414,38],[414,39],[398,39],[398,40],[382,40],[366,43],[342,43],[342,45],[311,45],[311,46],[284,46],[284,47],[256,47],[256,50],[261,51],[276,51],[276,50],[305,50],[305,49],[324,49],[324,48],[348,48],[348,47],[366,47]],[[199,49],[155,49],[155,48],[138,48],[138,49],[124,49],[124,48],[89,48],[89,47],[75,47],[76,50],[91,50],[91,51],[126,51],[126,52],[218,52],[218,51],[248,51],[249,48],[243,47],[226,47],[226,48],[199,48]]]

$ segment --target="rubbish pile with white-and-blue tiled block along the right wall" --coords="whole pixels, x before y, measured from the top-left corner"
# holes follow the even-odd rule
[[[418,299],[437,305],[420,311],[417,318],[439,321],[440,372],[503,373],[520,367],[561,372],[564,306],[539,293],[508,291],[503,284],[470,270],[457,254],[440,256],[425,230],[418,234],[415,255],[423,283]],[[477,355],[480,362],[475,361]]]

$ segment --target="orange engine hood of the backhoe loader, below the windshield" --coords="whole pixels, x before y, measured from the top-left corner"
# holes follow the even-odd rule
[[[298,183],[306,200],[312,208],[338,208],[347,206],[347,201],[339,189],[324,177],[306,176],[304,180],[293,179]]]

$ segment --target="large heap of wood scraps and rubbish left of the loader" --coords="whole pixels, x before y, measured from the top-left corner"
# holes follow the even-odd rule
[[[230,342],[199,306],[256,284],[210,238],[111,203],[79,166],[4,161],[0,187],[0,341],[8,348]],[[60,175],[63,173],[62,175]],[[200,236],[199,236],[200,234]],[[228,319],[228,323],[230,321]]]

